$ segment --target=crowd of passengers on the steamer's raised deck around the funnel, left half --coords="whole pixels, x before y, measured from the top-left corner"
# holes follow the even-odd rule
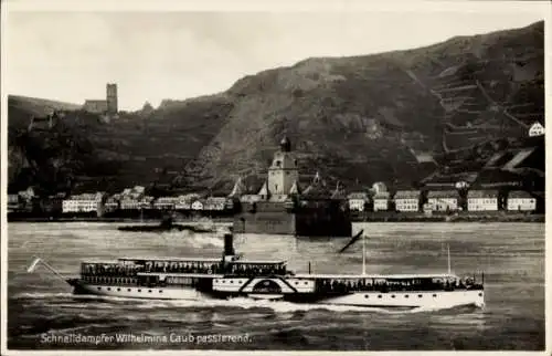
[[[244,276],[284,275],[285,265],[257,265],[205,262],[146,262],[145,264],[85,263],[84,276],[136,276],[138,273],[195,273],[195,274],[235,274]]]

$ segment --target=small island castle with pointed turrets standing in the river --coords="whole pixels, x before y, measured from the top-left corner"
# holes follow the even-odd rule
[[[347,200],[339,185],[332,192],[317,174],[301,190],[297,157],[287,137],[274,154],[268,176],[257,195],[243,195],[238,179],[231,193],[241,197],[234,216],[237,233],[350,237],[352,224]]]

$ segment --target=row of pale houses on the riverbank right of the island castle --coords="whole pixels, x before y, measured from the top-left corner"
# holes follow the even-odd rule
[[[469,190],[464,209],[468,211],[496,211],[502,209],[501,199],[506,199],[503,209],[509,211],[534,211],[537,199],[529,192],[512,190],[501,197],[498,190]],[[380,191],[373,197],[367,192],[353,192],[348,196],[351,211],[457,211],[464,210],[458,190],[399,190],[393,196]],[[393,207],[394,206],[394,207]]]

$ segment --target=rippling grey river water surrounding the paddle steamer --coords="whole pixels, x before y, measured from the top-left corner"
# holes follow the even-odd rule
[[[220,256],[220,234],[120,232],[115,223],[10,223],[9,349],[544,349],[544,224],[359,223],[368,273],[485,271],[486,306],[390,312],[286,302],[77,297],[43,266],[75,275],[82,259]],[[222,230],[222,227],[221,227]],[[362,245],[347,239],[237,235],[245,259],[288,269],[360,273]],[[65,336],[63,339],[61,336]],[[134,338],[131,338],[134,337]],[[93,339],[92,339],[93,338]],[[118,339],[117,339],[118,338]]]

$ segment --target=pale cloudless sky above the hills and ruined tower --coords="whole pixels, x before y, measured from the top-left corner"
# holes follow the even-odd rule
[[[4,92],[82,104],[118,84],[119,108],[227,90],[312,56],[412,49],[526,27],[535,11],[9,11]],[[2,30],[3,32],[3,30]]]

